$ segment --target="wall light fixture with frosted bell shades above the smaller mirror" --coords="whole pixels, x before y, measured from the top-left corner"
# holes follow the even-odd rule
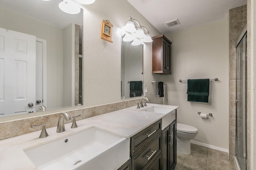
[[[126,23],[123,30],[123,41],[130,42],[132,41],[132,45],[137,46],[143,43],[151,43],[153,40],[149,34],[148,29],[140,25],[137,20],[129,17],[130,20]],[[146,31],[146,34],[145,32]]]

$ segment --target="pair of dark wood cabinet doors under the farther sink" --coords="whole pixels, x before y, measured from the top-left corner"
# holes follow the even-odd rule
[[[162,131],[163,170],[173,170],[177,164],[176,120]]]

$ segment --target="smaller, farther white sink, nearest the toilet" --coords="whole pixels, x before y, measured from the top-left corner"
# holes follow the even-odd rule
[[[164,114],[164,117],[162,117],[162,130],[164,130],[168,125],[170,125],[170,123],[172,123],[176,119],[175,109],[169,107],[146,106],[146,108],[140,110]]]

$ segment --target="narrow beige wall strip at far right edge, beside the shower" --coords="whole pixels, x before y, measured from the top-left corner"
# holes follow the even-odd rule
[[[254,84],[256,77],[256,61],[254,60],[256,50],[256,35],[254,34],[256,27],[256,1],[247,0],[247,169],[253,170],[256,166],[256,119],[254,119],[254,108],[256,108],[256,92]]]

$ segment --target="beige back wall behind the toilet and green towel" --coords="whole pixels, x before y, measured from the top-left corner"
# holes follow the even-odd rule
[[[164,104],[176,105],[178,123],[198,128],[194,143],[228,152],[228,16],[224,20],[166,35],[172,41],[172,75],[164,76]],[[209,103],[188,102],[187,82],[180,79],[218,78],[210,81]],[[202,119],[201,113],[213,117]]]

